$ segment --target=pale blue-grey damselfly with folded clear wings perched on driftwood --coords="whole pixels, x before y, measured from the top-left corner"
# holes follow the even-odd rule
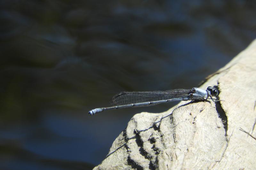
[[[217,97],[218,90],[214,87],[207,87],[206,90],[194,87],[192,89],[174,89],[167,91],[151,91],[151,92],[120,92],[116,94],[110,103],[112,107],[101,107],[89,111],[89,115],[94,115],[105,110],[126,108],[126,107],[147,107],[154,106],[159,103],[171,101],[187,101],[187,100],[207,100],[209,97]],[[216,101],[216,100],[215,100]]]

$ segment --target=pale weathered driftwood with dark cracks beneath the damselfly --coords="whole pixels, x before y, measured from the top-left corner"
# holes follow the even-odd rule
[[[256,169],[256,40],[201,86],[221,101],[140,113],[94,169]]]

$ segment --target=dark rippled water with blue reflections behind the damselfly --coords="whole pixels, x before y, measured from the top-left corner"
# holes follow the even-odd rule
[[[121,91],[197,86],[256,37],[254,1],[0,2],[0,169],[91,169],[132,115]]]

